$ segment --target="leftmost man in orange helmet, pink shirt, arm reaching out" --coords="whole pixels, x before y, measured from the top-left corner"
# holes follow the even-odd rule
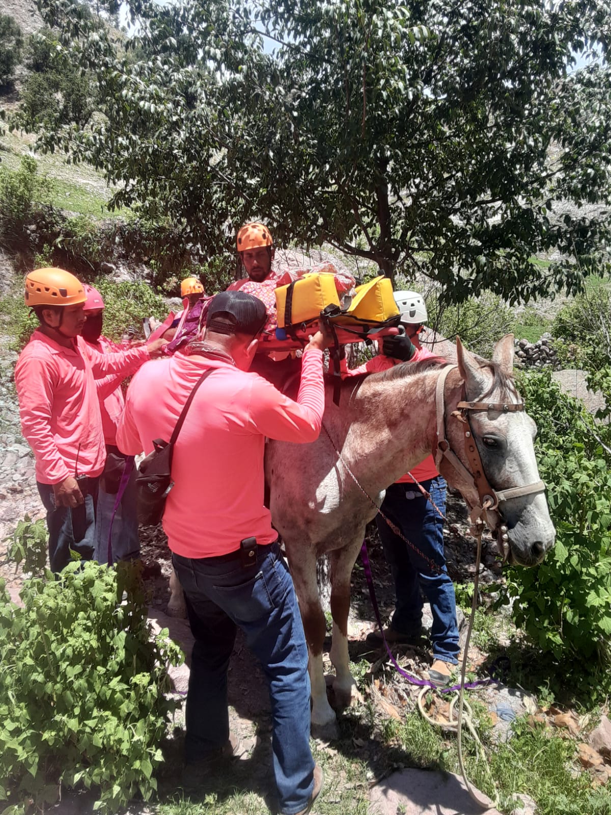
[[[49,562],[58,572],[70,550],[94,551],[95,504],[106,460],[95,377],[126,377],[165,341],[100,354],[80,336],[86,293],[68,271],[37,269],[25,278],[25,305],[39,326],[15,366],[21,430],[36,461],[49,528]]]

